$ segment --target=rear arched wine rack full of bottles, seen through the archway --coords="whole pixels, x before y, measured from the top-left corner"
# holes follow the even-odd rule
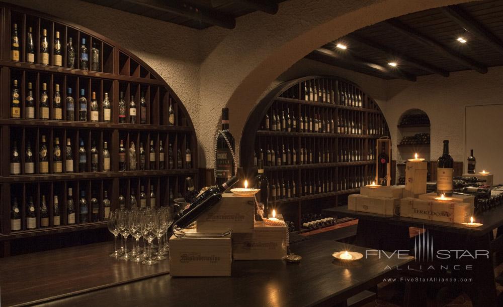
[[[307,215],[375,178],[376,139],[385,135],[384,115],[358,85],[308,76],[279,85],[255,107],[243,129],[240,162],[253,178],[257,161],[264,161],[269,207],[301,229]]]

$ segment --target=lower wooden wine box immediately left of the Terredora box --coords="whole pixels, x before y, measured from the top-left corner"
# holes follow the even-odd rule
[[[348,196],[348,209],[386,216],[399,215],[400,199],[351,194]]]

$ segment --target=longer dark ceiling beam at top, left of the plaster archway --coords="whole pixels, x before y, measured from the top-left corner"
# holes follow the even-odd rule
[[[216,10],[197,7],[195,5],[178,0],[123,0],[142,7],[157,11],[175,14],[192,20],[198,20],[206,24],[219,26],[226,29],[234,29],[236,20]]]

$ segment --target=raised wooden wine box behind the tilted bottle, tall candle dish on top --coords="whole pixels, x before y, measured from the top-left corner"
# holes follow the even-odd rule
[[[197,232],[253,232],[254,205],[253,196],[223,193],[222,200],[197,219]]]

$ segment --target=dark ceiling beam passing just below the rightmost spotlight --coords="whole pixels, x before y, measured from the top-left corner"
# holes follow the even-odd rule
[[[478,71],[481,74],[485,74],[487,72],[487,67],[482,65],[479,62],[476,62],[468,57],[465,57],[458,52],[451,50],[447,48],[446,46],[430,39],[429,37],[424,36],[423,34],[415,31],[414,29],[408,27],[407,25],[404,25],[403,23],[399,22],[396,19],[391,19],[382,22],[385,25],[388,25],[390,28],[394,29],[396,32],[402,34],[403,36],[406,36],[415,42],[422,44],[423,46],[433,48],[437,52],[445,55],[446,57],[468,67],[471,68],[475,71]]]

